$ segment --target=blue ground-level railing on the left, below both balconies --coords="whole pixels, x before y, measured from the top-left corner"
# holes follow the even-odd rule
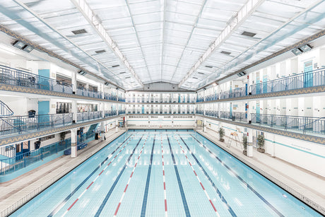
[[[0,160],[0,175],[7,175],[17,170],[23,169],[28,165],[37,163],[44,158],[57,154],[59,151],[64,151],[70,147],[71,139],[66,139],[65,141],[59,141],[49,146],[44,146],[42,148],[28,151],[18,156]]]

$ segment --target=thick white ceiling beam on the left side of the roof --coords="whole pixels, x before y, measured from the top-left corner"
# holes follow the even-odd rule
[[[128,69],[134,78],[136,78],[136,81],[138,81],[138,84],[140,84],[141,87],[143,87],[143,83],[138,78],[138,75],[135,73],[132,66],[129,64],[129,61],[127,61],[126,57],[122,54],[122,52],[117,47],[117,44],[112,40],[110,35],[107,34],[104,26],[102,25],[100,19],[98,16],[95,15],[93,10],[88,6],[88,4],[85,2],[85,0],[71,0],[71,2],[76,6],[78,11],[81,12],[83,17],[88,21],[88,23],[94,28],[96,33],[102,38],[102,40],[105,42],[105,44],[114,52],[114,54],[122,61],[124,66],[126,66],[126,69]]]

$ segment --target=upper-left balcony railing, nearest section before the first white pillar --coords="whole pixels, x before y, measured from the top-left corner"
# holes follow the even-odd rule
[[[71,84],[61,83],[52,78],[46,78],[31,74],[28,71],[13,69],[2,65],[0,65],[0,83],[61,93],[72,93]]]

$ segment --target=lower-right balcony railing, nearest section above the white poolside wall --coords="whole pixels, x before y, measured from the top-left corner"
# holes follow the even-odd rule
[[[264,115],[252,113],[252,124],[302,131],[304,134],[325,134],[325,117],[302,117],[290,115]]]

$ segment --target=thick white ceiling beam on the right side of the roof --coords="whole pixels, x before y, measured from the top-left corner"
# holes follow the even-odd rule
[[[211,54],[218,49],[223,43],[232,35],[232,33],[237,30],[237,28],[244,23],[245,20],[258,8],[265,0],[249,0],[247,4],[244,4],[240,11],[238,11],[235,16],[232,16],[228,21],[228,25],[226,25],[225,29],[220,33],[217,39],[208,47],[206,52],[200,57],[199,61],[192,66],[191,70],[187,72],[182,81],[179,83],[179,88],[187,81],[188,78],[192,76],[196,72],[197,69],[201,66],[201,64],[211,56]]]

